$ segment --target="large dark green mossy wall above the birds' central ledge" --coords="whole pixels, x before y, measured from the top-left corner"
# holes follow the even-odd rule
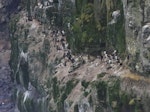
[[[102,50],[117,49],[121,56],[124,55],[126,44],[121,0],[76,0],[75,9],[68,19],[72,24],[71,31],[67,31],[67,41],[73,52],[97,54]],[[116,24],[108,25],[114,10],[120,10],[121,16]]]

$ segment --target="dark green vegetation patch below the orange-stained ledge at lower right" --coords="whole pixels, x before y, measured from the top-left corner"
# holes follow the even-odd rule
[[[112,77],[109,80],[111,81],[99,81],[95,83],[100,103],[95,112],[103,112],[106,108],[112,109],[114,112],[142,111],[143,105],[141,100],[136,98],[134,94],[126,94],[124,91],[121,91],[119,79]]]

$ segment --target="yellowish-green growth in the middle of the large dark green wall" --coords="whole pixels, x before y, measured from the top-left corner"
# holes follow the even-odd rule
[[[70,47],[75,52],[93,53],[97,51],[100,48],[101,32],[99,32],[100,28],[96,27],[93,4],[85,5],[81,15],[76,19],[73,22],[72,37],[69,39]]]

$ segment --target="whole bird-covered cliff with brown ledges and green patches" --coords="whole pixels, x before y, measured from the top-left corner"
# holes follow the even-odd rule
[[[9,23],[18,111],[150,111],[148,0],[22,2]]]

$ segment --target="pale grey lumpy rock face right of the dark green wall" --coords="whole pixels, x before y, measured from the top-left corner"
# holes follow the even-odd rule
[[[150,2],[144,0],[124,0],[127,50],[130,54],[130,66],[143,75],[150,73],[149,22]]]

